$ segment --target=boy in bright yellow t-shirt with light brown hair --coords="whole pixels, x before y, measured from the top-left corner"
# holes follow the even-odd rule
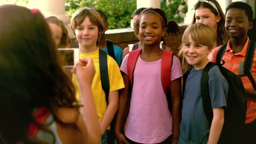
[[[109,97],[108,105],[106,94],[101,85],[99,49],[97,44],[100,42],[104,33],[104,23],[100,14],[91,8],[82,8],[77,10],[71,19],[71,28],[79,43],[80,58],[92,58],[94,60],[96,74],[92,80],[92,93],[96,104],[98,122],[100,122],[102,144],[107,143],[107,133],[109,124],[112,122],[118,109],[118,90],[124,88],[124,81],[121,76],[117,62],[107,55],[108,79],[109,79]],[[104,51],[103,51],[104,52]],[[78,88],[79,80],[73,75],[73,82]],[[80,99],[80,94],[77,93]]]

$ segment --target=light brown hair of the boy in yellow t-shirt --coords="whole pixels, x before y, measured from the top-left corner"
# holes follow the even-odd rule
[[[77,28],[85,18],[88,17],[93,25],[98,27],[98,39],[97,44],[100,42],[102,34],[104,34],[104,23],[101,19],[101,15],[95,10],[91,8],[81,8],[75,11],[73,16],[71,17],[71,29],[75,35],[75,28]]]

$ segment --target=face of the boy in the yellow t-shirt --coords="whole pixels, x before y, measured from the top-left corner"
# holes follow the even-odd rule
[[[89,17],[85,17],[84,21],[75,28],[75,35],[79,47],[96,47],[98,27],[91,23]]]

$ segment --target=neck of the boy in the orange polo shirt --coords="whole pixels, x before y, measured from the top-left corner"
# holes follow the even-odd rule
[[[247,36],[243,38],[231,38],[230,48],[233,50],[233,53],[241,52],[245,46],[246,41]]]

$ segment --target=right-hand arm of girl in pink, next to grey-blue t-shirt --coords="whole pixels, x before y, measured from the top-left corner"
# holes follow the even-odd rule
[[[173,122],[172,144],[174,144],[178,143],[179,124],[181,123],[181,77],[171,81],[171,97]]]

